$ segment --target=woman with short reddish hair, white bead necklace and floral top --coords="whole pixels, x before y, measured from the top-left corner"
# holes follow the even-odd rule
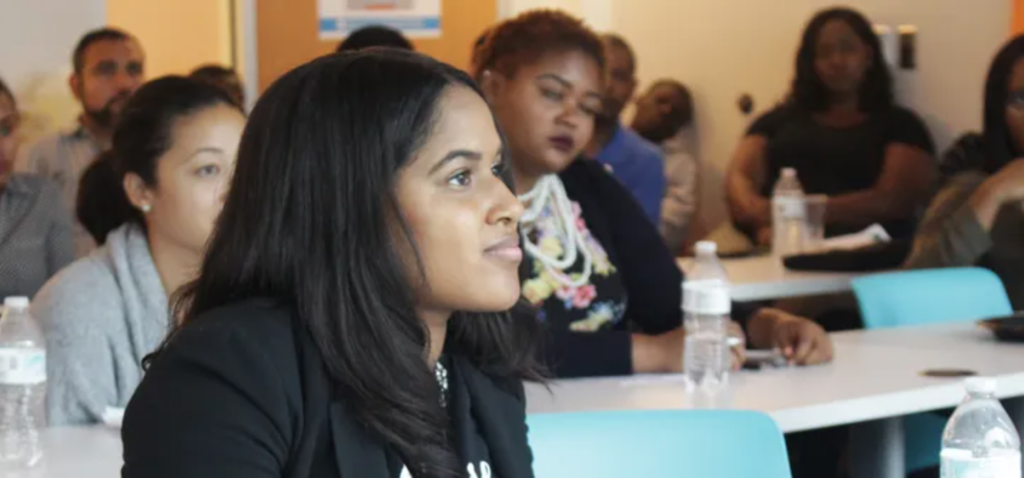
[[[538,10],[496,27],[477,53],[526,206],[520,274],[548,328],[546,359],[560,377],[681,371],[682,272],[631,193],[580,159],[602,104],[601,40],[571,16]],[[734,316],[754,346],[777,345],[799,363],[831,356],[806,319]]]

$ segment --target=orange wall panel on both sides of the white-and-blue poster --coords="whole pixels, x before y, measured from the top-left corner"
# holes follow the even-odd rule
[[[338,45],[336,40],[319,40],[316,0],[257,0],[256,5],[260,90]],[[473,41],[497,19],[496,0],[443,0],[441,37],[415,39],[413,43],[423,53],[465,69]]]

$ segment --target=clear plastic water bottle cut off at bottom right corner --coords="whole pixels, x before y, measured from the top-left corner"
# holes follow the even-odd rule
[[[942,433],[942,478],[1021,478],[1021,439],[995,399],[995,379],[967,380]]]

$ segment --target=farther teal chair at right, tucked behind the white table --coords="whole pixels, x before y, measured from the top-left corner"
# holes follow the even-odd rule
[[[911,270],[853,280],[867,329],[963,322],[1013,313],[999,277],[979,267]],[[919,414],[903,421],[906,470],[938,465],[946,420]]]

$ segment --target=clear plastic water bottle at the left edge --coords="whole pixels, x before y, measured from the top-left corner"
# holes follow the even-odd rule
[[[29,314],[29,299],[8,297],[0,316],[0,469],[35,465],[43,457],[46,343]]]

